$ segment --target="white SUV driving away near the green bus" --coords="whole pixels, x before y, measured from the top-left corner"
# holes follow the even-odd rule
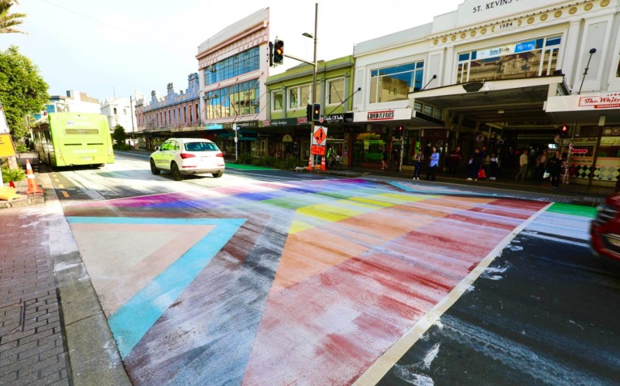
[[[150,155],[150,171],[157,175],[160,171],[172,173],[172,177],[183,180],[189,174],[211,173],[222,177],[226,169],[224,155],[216,144],[201,138],[169,138],[156,146]]]

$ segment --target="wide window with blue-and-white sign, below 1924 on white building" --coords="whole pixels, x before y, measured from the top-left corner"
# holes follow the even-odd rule
[[[458,55],[458,83],[552,75],[561,36],[524,40]]]

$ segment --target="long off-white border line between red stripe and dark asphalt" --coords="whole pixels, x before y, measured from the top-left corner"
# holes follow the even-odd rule
[[[399,339],[394,346],[389,348],[379,359],[373,363],[369,369],[366,370],[365,373],[362,374],[353,385],[356,386],[373,386],[376,385],[383,376],[389,371],[389,369],[401,359],[401,357],[407,353],[407,351],[414,345],[418,339],[430,328],[433,324],[439,320],[440,316],[442,316],[452,304],[458,300],[467,288],[472,286],[474,281],[488,268],[490,263],[493,262],[496,256],[501,254],[502,249],[504,249],[513,238],[515,238],[523,229],[525,229],[529,224],[532,224],[536,217],[545,213],[553,203],[549,203],[538,212],[534,213],[529,219],[525,222],[522,222],[519,226],[517,226],[511,233],[506,235],[506,237],[500,241],[495,248],[491,252],[489,252],[485,258],[480,261],[480,263],[474,268],[469,275],[467,275],[459,284],[457,284],[450,293],[440,300],[435,307],[426,313],[412,328],[409,330],[401,339]]]

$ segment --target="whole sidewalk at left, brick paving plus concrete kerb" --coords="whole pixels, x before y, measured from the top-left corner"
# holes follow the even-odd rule
[[[0,206],[0,385],[131,385],[52,180],[35,175],[44,197]]]

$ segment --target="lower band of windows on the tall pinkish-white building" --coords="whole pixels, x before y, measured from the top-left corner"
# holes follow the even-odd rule
[[[205,94],[207,118],[258,114],[261,107],[258,95],[258,79],[208,91]]]

